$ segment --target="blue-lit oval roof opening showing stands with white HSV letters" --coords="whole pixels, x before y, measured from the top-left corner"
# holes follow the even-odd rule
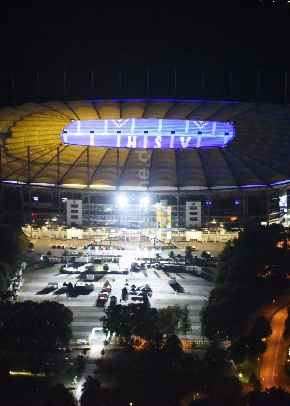
[[[73,121],[62,133],[63,144],[114,148],[222,147],[235,135],[232,123],[171,119]]]

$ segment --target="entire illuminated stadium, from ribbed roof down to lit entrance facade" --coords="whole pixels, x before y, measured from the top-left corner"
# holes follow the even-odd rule
[[[31,238],[216,242],[247,222],[288,226],[288,106],[26,103],[0,110],[0,132],[1,222]]]

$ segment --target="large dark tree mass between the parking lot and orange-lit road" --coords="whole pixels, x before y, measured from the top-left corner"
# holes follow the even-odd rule
[[[214,288],[201,310],[203,335],[238,339],[249,315],[264,300],[287,289],[289,237],[289,230],[281,225],[255,225],[227,242],[219,255]]]

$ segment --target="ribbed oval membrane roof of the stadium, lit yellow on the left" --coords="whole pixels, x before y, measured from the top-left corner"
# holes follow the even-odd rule
[[[74,133],[78,133],[78,128],[83,128],[83,121],[88,120],[94,123],[89,131],[106,125],[106,121],[107,125],[113,120],[119,124],[128,120],[126,123],[131,126],[133,121],[140,123],[139,133],[143,132],[143,140],[145,131],[151,134],[149,124],[157,125],[157,131],[155,127],[152,130],[155,138],[159,134],[158,124],[162,121],[160,128],[167,128],[165,136],[168,139],[172,135],[184,137],[184,144],[175,145],[174,137],[173,144],[169,141],[165,148],[146,144],[146,160],[144,155],[140,155],[146,151],[141,149],[145,147],[142,143],[137,143],[136,148],[132,148],[134,145],[127,148],[128,144],[125,148],[119,144],[117,153],[117,135],[121,133],[114,134],[116,143],[110,138],[111,135],[104,134],[108,140],[104,147],[92,146],[91,134],[95,134],[91,132],[87,142],[89,146],[63,145],[63,142],[68,142],[61,138],[61,134],[63,137],[67,135],[64,133],[67,131],[65,127],[74,125]],[[186,125],[190,128],[194,121],[200,126],[210,122],[208,128],[211,129],[213,123],[216,123],[216,128],[221,123],[232,123],[235,136],[226,147],[202,147],[201,138],[200,143],[195,145],[189,144],[190,138],[186,145],[187,138],[194,135],[189,130],[186,133]],[[148,125],[145,126],[145,123]],[[178,130],[178,124],[184,125],[184,128]],[[116,133],[122,131],[117,127],[114,129]],[[171,134],[171,131],[176,132]],[[0,110],[0,132],[2,180],[12,184],[25,184],[30,180],[30,184],[35,185],[80,188],[89,185],[90,188],[101,190],[190,190],[290,182],[289,107],[190,100],[176,103],[168,100],[27,103],[15,109]],[[203,132],[203,129],[198,132]],[[108,133],[112,134],[111,131]],[[225,140],[225,133],[230,133],[226,127],[221,134],[223,143],[228,141]],[[131,135],[134,134],[136,131]],[[197,141],[198,136],[204,135],[196,134],[193,138]],[[209,136],[213,140],[219,138],[215,132]],[[140,186],[141,170],[149,171],[147,186]]]

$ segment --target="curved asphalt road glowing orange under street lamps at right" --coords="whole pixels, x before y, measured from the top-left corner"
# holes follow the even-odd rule
[[[260,380],[263,388],[283,387],[290,391],[290,378],[284,373],[287,354],[287,342],[282,337],[287,318],[287,307],[273,315],[271,327],[273,333],[267,339],[267,350],[263,355],[260,368]]]

